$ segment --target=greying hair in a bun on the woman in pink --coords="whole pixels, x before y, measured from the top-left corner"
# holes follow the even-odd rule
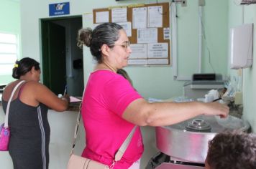
[[[78,47],[83,47],[83,44],[90,47],[91,54],[99,62],[101,58],[101,46],[103,44],[112,47],[119,39],[119,30],[123,29],[122,26],[116,23],[104,23],[96,26],[95,29],[84,28],[78,31]]]

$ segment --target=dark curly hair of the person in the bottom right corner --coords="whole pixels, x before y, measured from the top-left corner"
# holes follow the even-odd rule
[[[219,133],[209,141],[206,163],[211,169],[255,169],[256,135],[239,130]]]

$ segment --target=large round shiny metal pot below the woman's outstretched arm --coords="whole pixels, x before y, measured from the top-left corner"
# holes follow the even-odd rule
[[[201,115],[175,125],[156,127],[157,148],[181,161],[204,163],[208,142],[224,130],[249,130],[248,122],[237,117]]]

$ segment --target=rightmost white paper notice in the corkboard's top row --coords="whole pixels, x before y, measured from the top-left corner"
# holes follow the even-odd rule
[[[163,27],[163,6],[148,6],[147,19],[147,27]]]

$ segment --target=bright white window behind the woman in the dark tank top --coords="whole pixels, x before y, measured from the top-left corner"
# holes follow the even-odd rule
[[[12,74],[19,54],[17,34],[0,32],[0,75]]]

